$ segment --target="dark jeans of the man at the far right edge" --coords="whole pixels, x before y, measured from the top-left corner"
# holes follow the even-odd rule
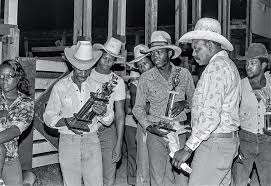
[[[234,163],[234,183],[236,186],[246,186],[253,162],[255,162],[261,185],[270,186],[271,136],[267,136],[265,134],[254,134],[242,129],[239,131],[239,136],[240,151],[244,157],[241,162],[236,161]],[[254,180],[252,180],[252,183],[253,181]]]

